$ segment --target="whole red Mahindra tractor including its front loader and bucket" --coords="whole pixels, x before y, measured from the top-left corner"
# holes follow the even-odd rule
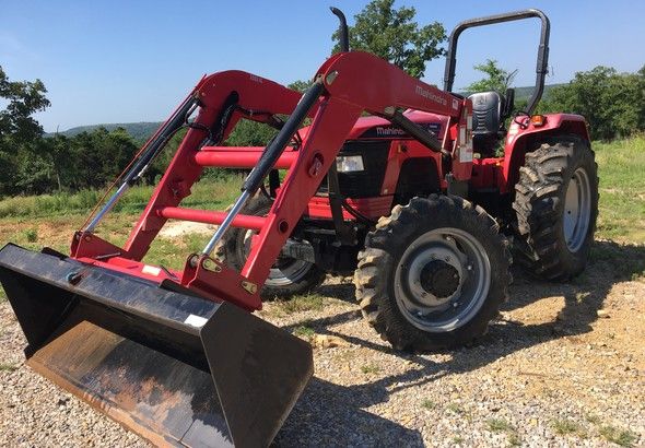
[[[159,445],[267,446],[313,375],[309,344],[251,314],[353,273],[366,320],[397,350],[469,344],[511,283],[511,250],[532,274],[583,271],[598,213],[585,119],[533,111],[549,20],[526,10],[460,23],[444,89],[363,51],[341,52],[302,94],[256,74],[202,78],[115,181],[69,254],[8,244],[0,281],[27,364]],[[537,79],[453,93],[470,27],[537,17]],[[278,130],[266,148],[225,141],[241,120]],[[303,125],[307,125],[304,126]],[[186,133],[119,247],[96,229],[168,140]],[[207,167],[250,170],[226,211],[181,207]],[[148,264],[168,220],[215,224],[183,270]],[[512,243],[512,245],[511,245]]]

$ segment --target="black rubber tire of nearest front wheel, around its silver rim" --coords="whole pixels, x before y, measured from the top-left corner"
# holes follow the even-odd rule
[[[450,203],[454,205],[450,207]],[[413,213],[409,210],[401,212],[390,223],[391,232],[377,232],[366,244],[386,252],[380,266],[383,275],[375,285],[379,297],[377,330],[385,332],[392,345],[400,350],[430,351],[468,344],[485,333],[489,321],[497,315],[500,304],[506,297],[509,282],[506,247],[494,229],[494,221],[483,210],[476,210],[461,198],[414,198],[409,205]],[[491,283],[486,298],[469,322],[446,332],[426,332],[410,322],[399,308],[395,295],[396,271],[406,249],[414,240],[442,227],[462,229],[482,245],[491,264]]]

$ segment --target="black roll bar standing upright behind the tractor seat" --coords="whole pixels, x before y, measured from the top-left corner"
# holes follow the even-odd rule
[[[459,39],[461,32],[476,26],[493,25],[495,23],[512,22],[530,17],[538,17],[542,22],[542,28],[540,31],[540,47],[538,48],[538,64],[536,68],[536,89],[526,108],[526,113],[530,115],[542,97],[542,93],[544,92],[544,78],[549,71],[549,33],[551,25],[549,23],[549,17],[547,17],[547,15],[540,10],[530,9],[507,12],[504,14],[471,19],[459,23],[455,30],[453,30],[453,33],[450,33],[450,37],[448,39],[448,54],[446,56],[446,70],[444,73],[444,91],[450,92],[453,90],[453,82],[455,81],[455,67],[457,63],[457,40]]]

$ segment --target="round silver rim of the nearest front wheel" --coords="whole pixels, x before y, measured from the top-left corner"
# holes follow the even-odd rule
[[[444,274],[453,276],[448,292],[427,288],[423,273],[433,266],[439,269],[434,271],[438,275],[435,281],[446,282]],[[491,288],[491,262],[481,243],[468,232],[436,228],[406,249],[394,286],[401,314],[414,327],[435,333],[452,331],[468,323],[484,304]]]

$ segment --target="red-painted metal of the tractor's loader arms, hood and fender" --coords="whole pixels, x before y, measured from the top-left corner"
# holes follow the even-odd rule
[[[386,129],[390,127],[389,122],[377,115],[386,116],[392,108],[410,108],[412,110],[406,111],[410,119],[420,123],[441,125],[441,135],[437,137],[444,142],[443,149],[448,161],[404,135],[391,140],[380,196],[348,199],[351,207],[373,219],[389,213],[401,166],[409,158],[433,157],[442,188],[446,187],[444,168],[452,165],[455,177],[470,179],[473,188],[496,186],[501,191],[507,191],[508,186],[513,185],[513,175],[524,163],[526,141],[538,131],[530,125],[526,129],[516,126],[506,141],[504,158],[471,161],[462,155],[470,139],[470,130],[466,129],[467,117],[472,109],[469,99],[439,91],[361,51],[330,57],[320,67],[317,76],[325,80],[325,92],[309,113],[313,118],[310,126],[298,132],[302,145],[297,150],[288,148],[274,166],[289,172],[271,210],[266,217],[238,215],[233,221],[234,226],[258,232],[241,272],[203,255],[188,256],[183,272],[155,271],[141,262],[166,220],[221,224],[226,216],[222,211],[178,208],[181,200],[190,194],[190,188],[199,179],[204,166],[251,168],[261,156],[262,148],[208,146],[199,150],[199,144],[207,137],[202,127],[192,127],[186,133],[125,248],[118,248],[94,235],[79,234],[72,243],[72,256],[83,262],[146,280],[175,281],[215,300],[228,300],[248,310],[259,309],[259,290],[291,229],[303,214],[331,217],[327,198],[314,194],[325,173],[336,163],[343,143],[361,138],[375,126],[385,129],[384,134],[375,135],[375,139],[391,140],[394,131]],[[332,82],[328,83],[327,80]],[[194,90],[192,95],[201,102],[195,122],[211,127],[219,119],[224,102],[232,92],[237,93],[239,106],[244,109],[285,115],[293,111],[302,96],[298,92],[250,73],[220,72],[204,76]],[[373,116],[362,117],[364,111]],[[261,116],[255,117],[259,119]],[[241,118],[242,111],[233,113],[224,139]],[[254,116],[244,118],[254,119]],[[567,130],[588,138],[584,120],[578,116],[549,115],[539,131],[543,133],[550,130]],[[460,133],[464,139],[460,139]],[[347,212],[344,217],[353,220]]]

